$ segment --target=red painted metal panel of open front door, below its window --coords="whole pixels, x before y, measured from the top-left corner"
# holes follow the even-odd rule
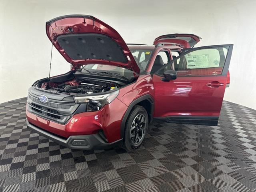
[[[189,115],[219,116],[226,87],[226,76],[177,77],[170,82],[154,74],[155,117]],[[212,81],[224,86],[211,88]]]

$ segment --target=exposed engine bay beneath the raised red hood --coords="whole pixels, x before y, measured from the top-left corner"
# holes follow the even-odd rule
[[[78,94],[96,94],[118,89],[130,82],[110,76],[95,76],[84,74],[80,71],[69,71],[60,76],[38,80],[32,86],[38,90],[75,96]]]

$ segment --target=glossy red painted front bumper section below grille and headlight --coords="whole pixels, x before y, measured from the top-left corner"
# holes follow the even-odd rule
[[[103,131],[104,139],[108,143],[120,140],[120,126],[123,113],[127,106],[120,100],[114,99],[110,104],[105,105],[99,111],[82,112],[72,114],[66,124],[60,124],[43,116],[34,114],[26,110],[26,118],[30,124],[44,130],[59,138],[69,138],[70,136],[93,135]]]

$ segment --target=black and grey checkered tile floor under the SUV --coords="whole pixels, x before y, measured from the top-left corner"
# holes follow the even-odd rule
[[[127,153],[59,146],[27,129],[25,104],[0,104],[0,192],[256,192],[255,110],[224,101],[218,126],[154,121]]]

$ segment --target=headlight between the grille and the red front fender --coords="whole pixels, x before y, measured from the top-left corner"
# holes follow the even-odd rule
[[[88,103],[86,111],[98,111],[104,105],[111,103],[117,96],[119,90],[108,94],[92,95],[92,96],[77,96],[74,97],[76,103]]]

